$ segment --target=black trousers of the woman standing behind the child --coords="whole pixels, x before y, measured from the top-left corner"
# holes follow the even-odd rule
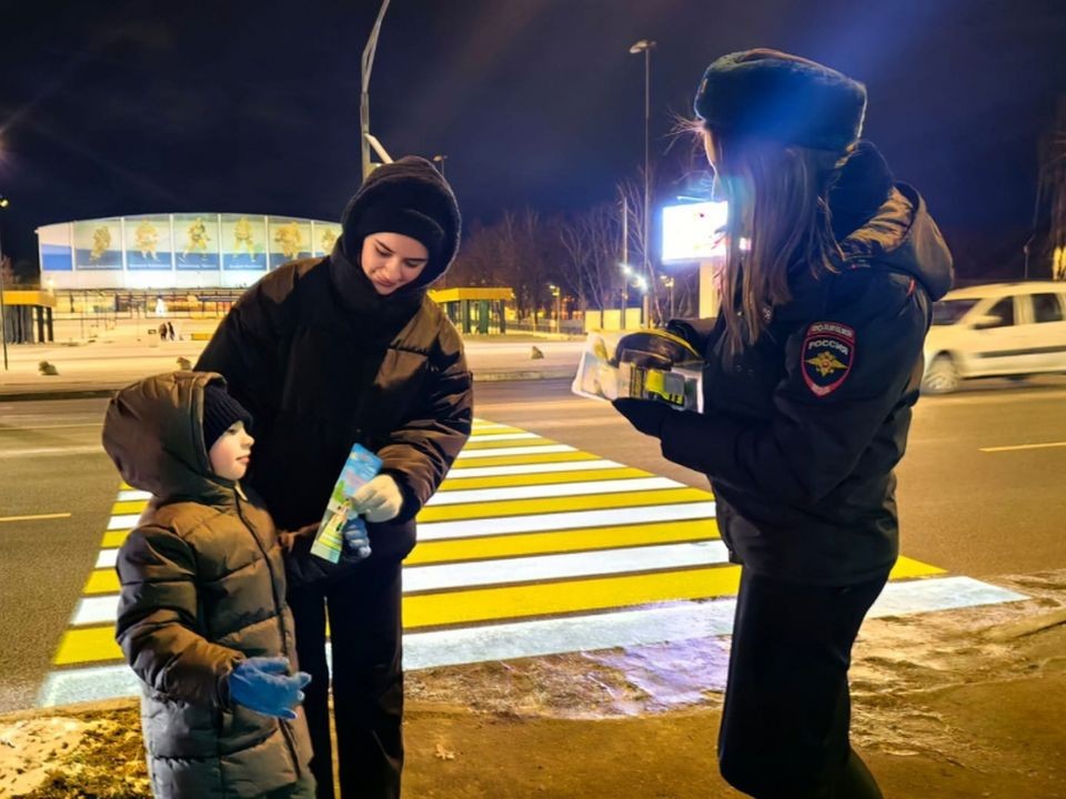
[[[400,563],[373,556],[328,588],[293,590],[300,668],[311,675],[304,710],[318,799],[333,799],[330,677],[325,617],[333,653],[333,720],[343,799],[398,799],[403,769],[403,668]]]

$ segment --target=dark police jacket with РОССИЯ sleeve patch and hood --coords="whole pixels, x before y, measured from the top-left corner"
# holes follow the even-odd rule
[[[708,335],[671,326],[704,353],[704,412],[666,416],[663,454],[707,474],[732,559],[768,577],[856,584],[898,555],[893,468],[918,398],[931,302],[953,272],[925,202],[885,181],[882,165],[845,168],[848,201],[872,215],[839,242],[839,272],[794,266],[792,300],[767,310],[754,344],[731,354],[722,316]]]

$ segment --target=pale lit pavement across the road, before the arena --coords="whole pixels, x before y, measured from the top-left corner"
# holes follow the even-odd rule
[[[0,372],[0,400],[108,396],[141,377],[195,364],[205,341],[140,340],[105,336],[88,343],[9,344],[8,370]],[[533,348],[542,354],[533,358]],[[466,340],[466,357],[475,381],[571,378],[582,341],[507,335]],[[42,364],[58,374],[42,373]]]

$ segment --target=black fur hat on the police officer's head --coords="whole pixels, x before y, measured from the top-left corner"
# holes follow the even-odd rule
[[[707,67],[696,115],[711,130],[844,152],[863,131],[866,87],[777,50],[745,50]]]

